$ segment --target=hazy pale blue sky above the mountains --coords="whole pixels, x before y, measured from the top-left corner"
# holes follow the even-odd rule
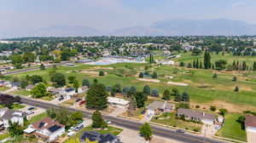
[[[255,14],[255,0],[1,0],[0,36],[49,26],[113,31],[171,19],[228,19],[256,24]]]

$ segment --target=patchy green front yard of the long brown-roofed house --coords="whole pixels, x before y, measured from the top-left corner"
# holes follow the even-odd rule
[[[189,129],[197,132],[200,132],[202,127],[201,123],[192,123],[189,121],[187,122],[181,119],[177,119],[174,112],[172,113],[166,112],[160,116],[155,116],[151,119],[151,122],[165,124],[168,126],[177,127],[181,129]]]

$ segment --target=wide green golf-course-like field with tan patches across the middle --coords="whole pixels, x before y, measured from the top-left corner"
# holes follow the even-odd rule
[[[124,87],[137,87],[137,90],[143,89],[143,86],[148,84],[151,89],[159,89],[160,94],[165,89],[172,90],[177,88],[180,93],[189,93],[191,102],[198,104],[211,103],[215,100],[221,100],[230,104],[236,104],[237,106],[249,106],[250,109],[256,110],[256,73],[244,73],[244,72],[217,72],[203,69],[188,69],[177,66],[149,66],[147,72],[157,72],[158,80],[160,83],[153,83],[147,81],[138,81],[134,72],[145,72],[145,66],[147,64],[134,64],[134,63],[120,63],[109,66],[90,66],[78,64],[75,67],[58,66],[56,72],[61,72],[66,77],[75,76],[79,79],[79,83],[82,83],[84,78],[89,79],[90,83],[94,78],[97,78],[100,83],[104,83],[106,86],[112,86],[116,83],[120,83]],[[48,68],[44,71],[36,72],[24,72],[12,76],[6,76],[6,79],[11,77],[25,77],[26,75],[41,75],[45,81],[49,82],[49,72],[53,68]],[[85,71],[85,72],[84,72]],[[108,74],[99,77],[91,76],[90,72],[107,72]],[[217,73],[217,78],[212,78],[213,73]],[[94,74],[96,75],[96,74]],[[173,78],[167,78],[172,76]],[[233,82],[232,77],[236,76],[237,81]],[[179,86],[168,84],[167,82],[185,83],[188,86]],[[235,87],[238,86],[240,92],[235,92]],[[21,91],[20,91],[21,92]],[[23,91],[21,92],[23,93]],[[24,95],[26,95],[25,93]],[[172,97],[173,100],[173,97]],[[239,109],[238,109],[239,110]],[[241,112],[241,111],[240,111]]]

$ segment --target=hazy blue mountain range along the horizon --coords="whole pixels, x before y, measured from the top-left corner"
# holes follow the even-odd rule
[[[27,36],[233,36],[256,35],[256,25],[240,20],[160,20],[150,26],[132,26],[113,31],[100,31],[88,26],[49,26],[28,31]]]

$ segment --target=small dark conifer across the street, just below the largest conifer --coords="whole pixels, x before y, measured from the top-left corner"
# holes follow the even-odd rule
[[[108,127],[107,123],[102,118],[102,113],[99,111],[93,112],[91,119],[92,119],[92,124],[91,124],[92,128],[104,129]]]

